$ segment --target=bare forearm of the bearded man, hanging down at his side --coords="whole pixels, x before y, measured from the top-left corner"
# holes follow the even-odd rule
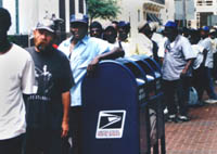
[[[68,126],[68,120],[69,120],[69,104],[71,104],[71,93],[69,91],[63,92],[62,93],[62,102],[63,102],[63,120],[62,120],[62,134],[61,137],[66,137],[69,126]]]

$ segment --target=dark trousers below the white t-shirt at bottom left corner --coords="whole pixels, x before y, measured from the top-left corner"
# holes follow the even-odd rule
[[[0,153],[22,154],[22,143],[23,143],[23,134],[12,139],[0,140]]]

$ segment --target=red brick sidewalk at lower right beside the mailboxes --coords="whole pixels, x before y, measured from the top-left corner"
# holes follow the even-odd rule
[[[190,108],[191,121],[166,123],[166,154],[217,154],[217,104]]]

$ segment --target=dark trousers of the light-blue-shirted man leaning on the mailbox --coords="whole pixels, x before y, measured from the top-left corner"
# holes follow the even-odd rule
[[[81,153],[81,106],[71,107],[69,133],[73,138],[72,154]]]

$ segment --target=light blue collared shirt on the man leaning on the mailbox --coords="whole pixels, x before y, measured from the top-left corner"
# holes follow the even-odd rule
[[[98,55],[108,52],[111,44],[106,41],[86,36],[78,41],[71,52],[71,40],[63,41],[59,50],[64,52],[71,61],[71,68],[75,79],[75,86],[71,89],[71,106],[81,105],[81,81],[87,73],[87,66]]]

